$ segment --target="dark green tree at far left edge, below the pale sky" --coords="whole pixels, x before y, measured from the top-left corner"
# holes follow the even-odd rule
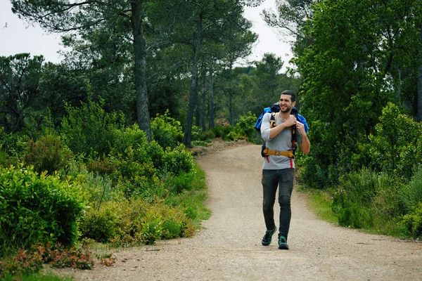
[[[0,57],[0,124],[7,132],[20,131],[32,115],[43,61],[29,53]]]

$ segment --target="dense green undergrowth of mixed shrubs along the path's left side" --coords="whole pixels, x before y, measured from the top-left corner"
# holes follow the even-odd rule
[[[210,216],[205,173],[168,112],[152,119],[148,142],[102,103],[66,110],[59,127],[46,116],[19,133],[0,129],[0,277],[25,280],[43,263],[110,265],[113,247],[191,237]],[[244,123],[194,127],[193,143],[248,138]]]

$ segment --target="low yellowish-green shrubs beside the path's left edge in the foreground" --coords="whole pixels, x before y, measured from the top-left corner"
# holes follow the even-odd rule
[[[106,202],[98,210],[89,209],[80,228],[84,237],[115,246],[153,244],[163,238],[184,237],[193,230],[179,207],[140,198]]]

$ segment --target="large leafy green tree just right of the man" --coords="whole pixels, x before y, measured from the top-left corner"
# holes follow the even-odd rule
[[[312,127],[305,178],[324,188],[367,164],[382,109],[400,86],[416,93],[421,1],[325,0],[303,27],[310,44],[295,53],[302,110]],[[400,74],[402,73],[402,74]]]

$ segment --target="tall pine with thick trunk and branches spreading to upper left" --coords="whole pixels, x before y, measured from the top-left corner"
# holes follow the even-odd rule
[[[37,22],[51,32],[89,30],[94,27],[108,28],[120,17],[130,20],[134,53],[134,84],[136,89],[136,111],[139,128],[151,141],[148,93],[146,89],[146,41],[144,5],[148,1],[61,1],[12,0],[12,11],[20,18]]]

